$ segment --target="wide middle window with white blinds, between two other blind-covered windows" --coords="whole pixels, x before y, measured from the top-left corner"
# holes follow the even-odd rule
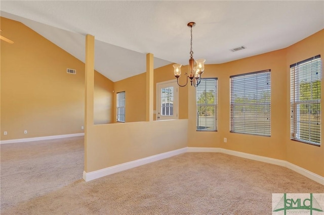
[[[230,132],[270,136],[270,70],[230,76]]]

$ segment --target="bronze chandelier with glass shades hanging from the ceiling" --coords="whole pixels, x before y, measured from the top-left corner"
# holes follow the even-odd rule
[[[185,73],[185,76],[187,77],[187,82],[185,85],[180,85],[179,84],[179,77],[181,75],[181,64],[174,64],[173,68],[174,68],[174,76],[177,78],[177,83],[180,87],[184,87],[188,84],[188,78],[190,79],[190,83],[191,86],[193,85],[194,87],[198,86],[198,84],[200,83],[200,78],[201,75],[203,74],[204,70],[205,70],[205,59],[198,59],[196,60],[196,64],[194,65],[195,60],[193,59],[193,51],[192,51],[192,27],[194,27],[196,25],[196,23],[194,22],[189,22],[187,24],[188,27],[190,27],[190,32],[191,32],[191,40],[190,40],[190,59],[189,59],[189,72],[190,74],[188,75],[188,73]]]

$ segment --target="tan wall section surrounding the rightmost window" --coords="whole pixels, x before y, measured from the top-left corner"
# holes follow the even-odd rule
[[[324,59],[324,30],[321,30],[310,37],[303,39],[300,42],[287,48],[287,63],[286,63],[286,105],[287,105],[287,118],[286,123],[290,123],[290,65],[306,60],[308,58],[320,55],[321,61]],[[323,65],[322,65],[323,76]],[[324,83],[322,79],[321,88],[323,89]],[[321,91],[321,110],[324,108],[324,94]],[[321,112],[323,113],[323,112]],[[321,121],[323,117],[321,116]],[[322,121],[323,122],[323,121]],[[309,145],[297,141],[290,140],[290,127],[287,126],[286,136],[282,139],[285,140],[287,145],[287,161],[299,167],[307,169],[313,173],[324,176],[324,126],[321,124],[321,146]]]

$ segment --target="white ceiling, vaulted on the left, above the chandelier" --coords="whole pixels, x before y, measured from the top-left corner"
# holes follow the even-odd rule
[[[95,69],[112,81],[145,72],[146,53],[154,68],[187,65],[190,21],[193,56],[206,64],[285,48],[324,28],[324,1],[1,1],[0,10],[83,62],[85,35],[94,35]]]

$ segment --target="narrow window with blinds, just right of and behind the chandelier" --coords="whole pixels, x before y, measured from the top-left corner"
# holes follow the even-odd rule
[[[217,78],[202,78],[196,88],[197,131],[217,131]]]

